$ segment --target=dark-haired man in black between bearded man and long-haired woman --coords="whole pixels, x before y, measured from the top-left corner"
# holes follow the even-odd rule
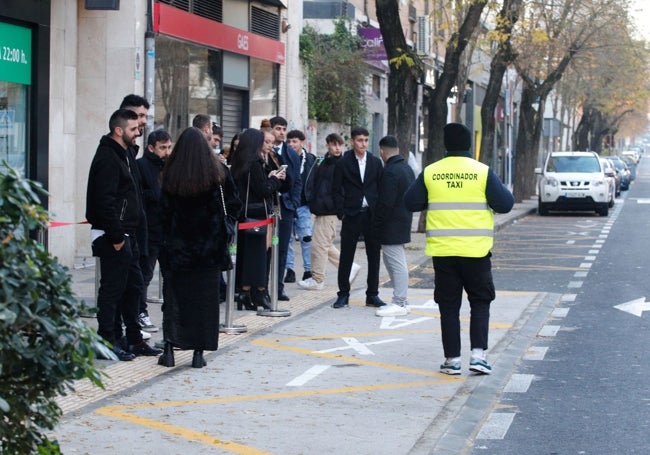
[[[172,138],[164,130],[155,130],[147,138],[147,148],[138,158],[138,169],[142,179],[142,199],[147,215],[147,254],[140,256],[140,268],[144,280],[144,291],[140,300],[138,321],[145,332],[157,332],[147,311],[147,288],[153,278],[162,243],[162,207],[160,182],[165,159],[172,151]]]

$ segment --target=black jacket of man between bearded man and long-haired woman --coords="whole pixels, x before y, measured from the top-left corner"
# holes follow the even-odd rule
[[[165,161],[147,149],[137,163],[142,179],[142,200],[147,215],[148,240],[151,244],[159,245],[162,241],[160,175]]]

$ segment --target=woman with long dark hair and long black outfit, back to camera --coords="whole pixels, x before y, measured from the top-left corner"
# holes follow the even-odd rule
[[[230,265],[224,204],[237,217],[241,202],[228,168],[193,127],[167,159],[162,191],[165,350],[158,363],[174,366],[176,347],[194,350],[192,366],[201,368],[203,351],[218,346],[219,279]]]

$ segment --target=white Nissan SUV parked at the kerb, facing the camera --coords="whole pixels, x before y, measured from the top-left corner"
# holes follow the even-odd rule
[[[594,152],[552,152],[546,158],[539,180],[540,215],[550,210],[595,210],[609,213],[609,184]]]

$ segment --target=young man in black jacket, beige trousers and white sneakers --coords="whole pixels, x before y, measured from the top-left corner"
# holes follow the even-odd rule
[[[336,238],[336,207],[332,197],[332,180],[334,165],[343,155],[343,138],[336,133],[325,138],[327,153],[323,161],[313,171],[305,190],[306,201],[313,215],[314,224],[311,246],[311,277],[298,282],[298,286],[311,291],[320,291],[325,287],[325,266],[329,261],[338,269],[340,252],[334,246]],[[350,283],[359,274],[361,266],[352,264]]]

